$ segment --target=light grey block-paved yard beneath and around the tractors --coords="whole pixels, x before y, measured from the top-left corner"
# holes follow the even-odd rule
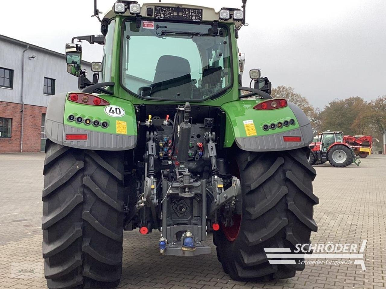
[[[41,259],[43,154],[0,154],[0,288],[45,288]],[[295,277],[274,282],[235,282],[223,273],[215,250],[194,258],[162,257],[158,234],[124,234],[120,287],[146,288],[386,288],[386,157],[372,155],[360,167],[315,167],[320,204],[312,243],[367,240],[361,265],[308,265]],[[207,243],[211,243],[209,238]],[[323,260],[323,259],[319,259]],[[339,259],[338,259],[339,260]],[[347,259],[342,259],[346,260]],[[29,272],[22,270],[29,269]],[[149,275],[147,272],[156,272]]]

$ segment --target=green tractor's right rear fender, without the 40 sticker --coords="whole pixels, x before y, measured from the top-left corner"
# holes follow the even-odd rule
[[[234,142],[245,151],[283,151],[308,146],[313,139],[313,131],[309,119],[303,111],[293,103],[288,106],[267,111],[256,110],[253,107],[259,101],[243,100],[223,104],[226,114],[224,147],[230,147]],[[263,129],[264,124],[284,123],[295,120],[289,126]],[[300,141],[284,141],[284,137]]]

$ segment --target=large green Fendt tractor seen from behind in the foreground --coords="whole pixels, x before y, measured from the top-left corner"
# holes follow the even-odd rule
[[[175,256],[210,254],[210,233],[235,280],[304,269],[301,258],[278,262],[266,252],[293,252],[317,231],[312,128],[298,106],[270,96],[258,69],[254,88],[242,86],[242,2],[216,12],[118,1],[102,19],[95,3],[102,35],[66,44],[81,90],[56,94],[47,107],[49,288],[117,286],[124,230],[158,231],[154,246]],[[92,81],[81,40],[104,45]]]

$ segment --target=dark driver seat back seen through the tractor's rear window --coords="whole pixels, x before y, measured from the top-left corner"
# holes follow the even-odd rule
[[[154,75],[152,96],[157,98],[190,99],[192,79],[189,61],[183,57],[163,55],[159,57]]]

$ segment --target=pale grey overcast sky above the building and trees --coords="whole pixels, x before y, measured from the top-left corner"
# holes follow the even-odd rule
[[[217,10],[242,4],[174,2]],[[98,8],[106,12],[113,3],[98,0]],[[0,1],[0,11],[0,34],[62,53],[73,36],[100,34],[98,20],[90,17],[93,0]],[[274,87],[292,86],[320,108],[335,98],[384,95],[385,16],[385,0],[249,0],[249,26],[241,29],[239,39],[240,52],[246,54],[244,86],[249,84],[247,71],[261,68]],[[100,45],[83,42],[83,59],[98,61],[101,55]]]

